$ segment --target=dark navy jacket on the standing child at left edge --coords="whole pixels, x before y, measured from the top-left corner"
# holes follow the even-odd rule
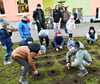
[[[5,29],[0,29],[0,41],[3,46],[6,46],[7,49],[11,48],[13,46],[11,37],[12,32],[7,33]]]

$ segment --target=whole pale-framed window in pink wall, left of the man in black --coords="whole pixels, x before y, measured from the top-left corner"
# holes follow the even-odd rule
[[[18,13],[28,13],[28,0],[17,0]]]

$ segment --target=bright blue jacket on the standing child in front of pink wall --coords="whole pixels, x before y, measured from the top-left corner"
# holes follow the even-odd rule
[[[30,27],[28,23],[20,21],[18,31],[20,33],[21,38],[31,37]]]

